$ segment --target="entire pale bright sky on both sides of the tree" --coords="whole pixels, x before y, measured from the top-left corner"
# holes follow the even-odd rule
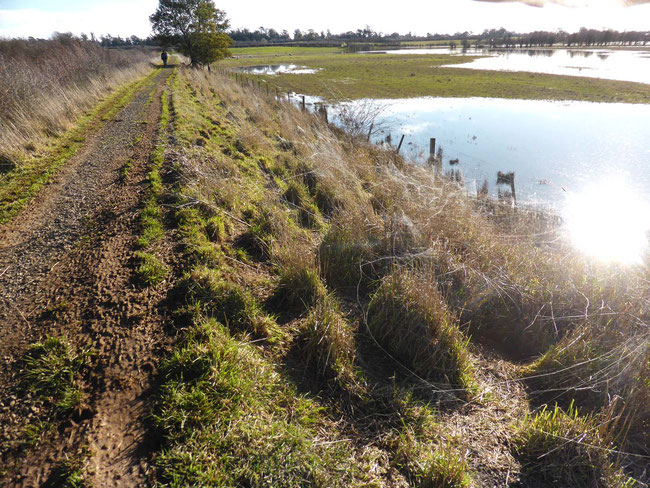
[[[216,0],[234,28],[330,29],[369,25],[384,33],[482,32],[580,27],[650,29],[650,0]],[[158,0],[0,0],[0,37],[49,37],[52,32],[137,35],[151,33]],[[628,6],[625,6],[628,4]],[[636,5],[634,5],[636,4]]]

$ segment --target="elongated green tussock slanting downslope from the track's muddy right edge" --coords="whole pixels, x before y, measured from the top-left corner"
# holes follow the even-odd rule
[[[232,283],[217,271],[197,267],[183,279],[189,302],[198,302],[208,317],[226,324],[233,331],[257,337],[271,337],[277,325],[259,302],[242,286]]]

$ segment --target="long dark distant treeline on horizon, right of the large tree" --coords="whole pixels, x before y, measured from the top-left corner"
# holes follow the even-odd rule
[[[535,31],[529,33],[517,33],[504,29],[486,29],[482,33],[456,32],[455,34],[431,34],[417,36],[412,33],[400,34],[393,32],[385,34],[376,32],[369,26],[356,31],[332,34],[329,30],[316,32],[313,29],[302,31],[296,29],[293,33],[286,30],[277,31],[260,27],[255,31],[248,29],[235,29],[228,32],[237,45],[264,45],[264,44],[285,44],[285,43],[322,43],[331,45],[334,43],[396,43],[413,41],[459,41],[464,46],[470,44],[484,45],[489,47],[531,47],[531,46],[609,46],[609,45],[648,45],[650,44],[650,31],[624,31],[619,32],[611,29],[597,30],[581,28],[578,32],[569,33],[559,31]]]

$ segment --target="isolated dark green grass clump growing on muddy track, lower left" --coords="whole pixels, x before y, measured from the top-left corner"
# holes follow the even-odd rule
[[[22,384],[58,413],[68,413],[83,402],[81,375],[90,351],[77,349],[64,337],[33,344],[23,357]]]

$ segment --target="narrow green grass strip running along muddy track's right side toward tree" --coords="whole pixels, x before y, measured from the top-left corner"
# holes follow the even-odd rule
[[[153,245],[163,235],[162,211],[160,198],[163,194],[163,183],[160,170],[164,161],[165,148],[167,147],[167,128],[169,125],[169,90],[176,80],[176,69],[167,79],[166,88],[163,90],[161,101],[160,122],[158,125],[158,141],[151,153],[151,166],[147,175],[149,189],[145,196],[144,208],[140,214],[142,234],[137,245],[140,248],[135,253],[138,264],[137,275],[141,283],[153,286],[160,283],[168,273],[167,266],[161,262],[152,251]]]

